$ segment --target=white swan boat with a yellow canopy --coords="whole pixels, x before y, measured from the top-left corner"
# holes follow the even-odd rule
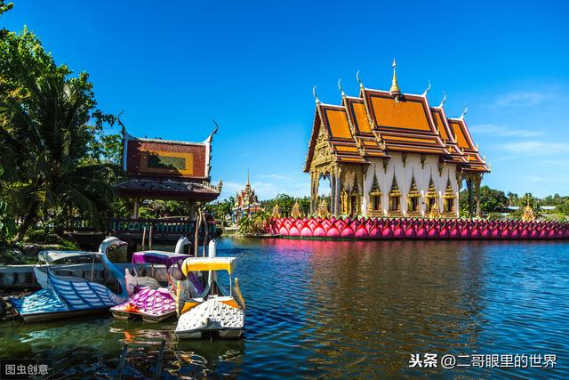
[[[235,267],[235,257],[191,257],[182,263],[181,271],[187,277],[201,271],[207,285],[198,295],[179,288],[179,319],[174,330],[179,339],[197,339],[207,333],[217,333],[220,338],[238,338],[243,334],[245,303],[239,279],[232,286]],[[229,291],[218,282],[218,271],[228,272]]]

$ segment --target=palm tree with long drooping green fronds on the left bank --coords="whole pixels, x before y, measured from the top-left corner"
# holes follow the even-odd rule
[[[86,74],[68,79],[56,68],[28,80],[25,96],[0,95],[0,163],[12,163],[4,185],[20,217],[16,240],[41,216],[82,214],[100,222],[119,167],[89,158],[96,128],[87,125],[95,105]]]

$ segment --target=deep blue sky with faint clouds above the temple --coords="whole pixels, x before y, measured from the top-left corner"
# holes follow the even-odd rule
[[[13,0],[0,23],[36,32],[58,63],[92,76],[100,108],[130,133],[215,136],[212,181],[223,197],[309,194],[302,166],[312,86],[339,103],[399,85],[467,123],[492,163],[484,183],[569,194],[569,27],[565,2],[76,2]]]

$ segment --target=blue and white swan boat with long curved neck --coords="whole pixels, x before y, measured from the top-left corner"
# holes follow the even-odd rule
[[[41,251],[40,264],[34,267],[37,282],[42,290],[22,298],[10,298],[14,310],[26,322],[75,317],[96,311],[108,311],[127,298],[124,277],[121,271],[108,260],[110,247],[125,246],[126,243],[114,237],[103,240],[98,252],[88,251]],[[72,273],[71,266],[53,268],[54,263],[90,262],[91,271],[83,271],[84,277],[61,275],[65,269]],[[105,279],[95,279],[95,262],[115,279],[115,290],[106,285]],[[104,271],[104,272],[106,272]],[[104,277],[104,276],[103,276]]]

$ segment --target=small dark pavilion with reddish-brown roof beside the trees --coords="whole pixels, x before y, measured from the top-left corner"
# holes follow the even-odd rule
[[[121,198],[132,198],[138,218],[142,199],[188,202],[190,217],[196,203],[220,196],[221,181],[212,185],[210,172],[214,130],[203,142],[142,139],[123,128],[123,169],[127,178],[115,185]]]

